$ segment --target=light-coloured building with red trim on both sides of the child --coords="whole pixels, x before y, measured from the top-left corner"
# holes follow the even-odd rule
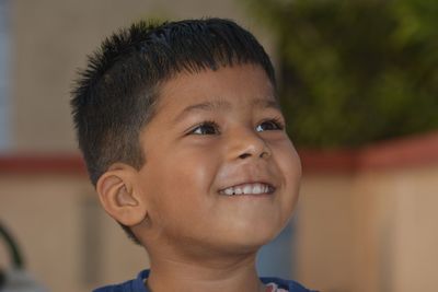
[[[76,69],[114,30],[148,16],[234,19],[274,51],[269,34],[241,2],[0,1],[10,72],[8,117],[0,117],[8,139],[0,155],[0,220],[50,291],[90,291],[148,266],[143,250],[99,207],[80,162],[69,108]],[[438,289],[437,133],[301,156],[291,277],[325,292]],[[8,265],[0,245],[0,267]]]

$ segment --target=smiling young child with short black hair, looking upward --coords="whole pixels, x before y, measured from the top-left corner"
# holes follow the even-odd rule
[[[309,291],[255,269],[301,166],[253,35],[221,19],[139,22],[90,57],[72,95],[100,201],[150,257],[95,291]]]

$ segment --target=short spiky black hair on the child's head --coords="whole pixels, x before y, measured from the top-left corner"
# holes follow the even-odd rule
[[[161,84],[181,72],[244,63],[261,66],[275,85],[262,45],[230,20],[140,21],[106,38],[79,71],[71,100],[92,184],[113,163],[143,165],[139,132],[153,117]]]

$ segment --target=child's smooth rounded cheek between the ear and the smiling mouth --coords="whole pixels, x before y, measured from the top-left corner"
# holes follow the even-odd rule
[[[206,212],[216,175],[217,160],[211,152],[171,153],[161,159],[155,156],[149,163],[150,214],[160,225],[182,224],[196,220],[196,213]]]

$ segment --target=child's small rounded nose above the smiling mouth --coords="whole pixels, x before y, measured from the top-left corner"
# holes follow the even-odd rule
[[[254,131],[235,132],[231,138],[230,144],[230,157],[232,160],[267,159],[272,155],[266,141]]]

